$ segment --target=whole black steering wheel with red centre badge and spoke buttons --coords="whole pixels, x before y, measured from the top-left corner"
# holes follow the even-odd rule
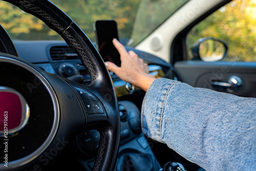
[[[6,2],[38,17],[61,35],[78,54],[92,81],[85,87],[0,53],[0,123],[4,125],[0,147],[1,151],[6,149],[1,152],[4,162],[0,170],[47,168],[72,137],[89,129],[100,133],[93,170],[113,170],[120,141],[118,102],[109,72],[92,42],[47,0]]]

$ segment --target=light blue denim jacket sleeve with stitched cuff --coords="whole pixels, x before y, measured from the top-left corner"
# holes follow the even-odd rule
[[[148,89],[143,133],[206,170],[256,170],[256,99],[165,78]]]

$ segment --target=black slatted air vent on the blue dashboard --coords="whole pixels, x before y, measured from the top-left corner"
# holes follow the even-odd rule
[[[50,55],[52,60],[79,59],[73,48],[69,46],[53,46]]]

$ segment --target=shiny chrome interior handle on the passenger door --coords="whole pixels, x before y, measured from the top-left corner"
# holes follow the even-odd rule
[[[229,92],[238,91],[239,87],[242,85],[242,80],[238,76],[231,76],[227,82],[212,81],[211,85],[225,88]]]

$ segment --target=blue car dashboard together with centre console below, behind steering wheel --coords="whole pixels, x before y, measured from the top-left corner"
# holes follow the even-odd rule
[[[90,84],[91,77],[86,68],[83,67],[77,54],[65,41],[14,40],[13,44],[20,58],[33,63],[40,69],[83,85]],[[127,51],[133,50],[148,63],[150,74],[156,78],[169,74],[171,66],[162,59],[130,47],[125,48]],[[110,75],[118,97],[121,119],[121,140],[116,170],[123,170],[123,167],[128,167],[131,161],[134,167],[142,170],[144,169],[141,168],[143,166],[140,164],[141,162],[151,163],[151,166],[147,164],[144,166],[159,170],[161,166],[141,132],[140,109],[145,92],[121,80],[113,72],[110,72]],[[173,76],[173,73],[171,75]],[[86,92],[81,87],[78,89],[75,88],[79,95],[81,92]],[[100,105],[99,108],[101,108]],[[53,170],[55,167],[59,169],[60,165],[66,168],[67,166],[61,163],[69,159],[70,156],[81,169],[91,170],[99,146],[99,139],[100,135],[96,130],[88,130],[75,136],[70,147],[58,159],[59,164],[56,162],[53,166]]]

